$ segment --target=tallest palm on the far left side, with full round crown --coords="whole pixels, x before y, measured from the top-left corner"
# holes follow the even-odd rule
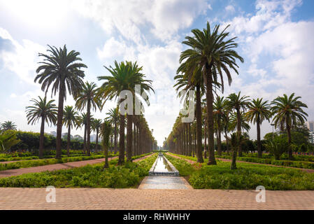
[[[66,45],[64,48],[57,49],[50,47],[47,50],[50,55],[39,53],[38,55],[44,57],[43,62],[39,62],[35,78],[35,83],[41,84],[41,90],[48,92],[50,85],[52,85],[52,94],[59,91],[59,103],[57,114],[57,142],[56,142],[56,158],[61,159],[61,146],[62,146],[62,118],[63,118],[63,104],[66,99],[66,92],[72,94],[74,97],[80,92],[83,86],[84,71],[81,68],[87,66],[81,61],[80,52],[71,50],[68,53]]]

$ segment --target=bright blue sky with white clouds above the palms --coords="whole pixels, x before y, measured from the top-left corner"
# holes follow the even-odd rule
[[[180,52],[187,48],[182,41],[206,22],[230,25],[229,36],[237,36],[236,51],[245,61],[238,62],[239,75],[232,73],[222,95],[241,91],[271,102],[295,92],[308,105],[308,120],[314,120],[313,8],[312,0],[0,0],[0,123],[12,120],[18,130],[39,132],[39,124],[27,125],[25,113],[32,98],[44,95],[34,83],[38,52],[45,53],[48,44],[66,44],[88,66],[85,81],[98,86],[97,76],[108,75],[104,66],[115,60],[143,66],[155,89],[145,118],[162,145],[182,108],[173,88]],[[56,96],[48,97],[57,104]],[[64,102],[74,104],[71,96]],[[114,106],[107,102],[94,118],[105,118]],[[55,130],[45,126],[45,132]],[[271,131],[264,122],[262,136]],[[255,125],[249,134],[256,139]]]

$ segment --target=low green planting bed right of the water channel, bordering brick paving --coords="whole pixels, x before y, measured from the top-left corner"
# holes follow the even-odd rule
[[[196,169],[185,160],[169,155],[166,158],[180,175],[189,176],[191,186],[197,189],[255,190],[264,186],[266,190],[314,190],[314,174],[299,169],[237,163],[238,169],[231,170],[230,162],[217,162],[215,166],[203,163]]]

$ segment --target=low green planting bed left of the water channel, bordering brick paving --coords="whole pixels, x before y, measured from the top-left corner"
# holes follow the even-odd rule
[[[145,154],[148,155],[148,154]],[[143,157],[139,155],[133,159]],[[22,174],[0,179],[0,187],[10,188],[134,188],[138,186],[155,162],[157,155],[152,155],[140,162],[127,162],[116,166],[117,159],[110,160],[108,169],[104,162],[73,169],[60,169],[54,172]]]

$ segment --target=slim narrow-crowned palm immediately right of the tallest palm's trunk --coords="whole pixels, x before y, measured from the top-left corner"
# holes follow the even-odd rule
[[[226,108],[226,99],[224,97],[216,97],[216,100],[213,105],[213,113],[217,116],[217,151],[218,155],[221,155],[221,132],[222,132],[222,118],[224,116],[224,110]]]

